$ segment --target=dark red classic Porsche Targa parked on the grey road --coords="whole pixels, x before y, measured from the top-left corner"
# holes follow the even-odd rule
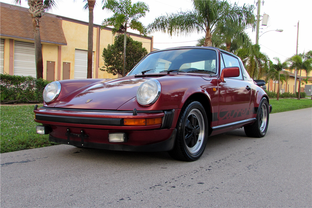
[[[197,160],[209,136],[244,127],[263,137],[267,94],[241,60],[213,47],[179,47],[145,56],[122,78],[62,80],[34,109],[39,134],[76,147],[168,151]]]

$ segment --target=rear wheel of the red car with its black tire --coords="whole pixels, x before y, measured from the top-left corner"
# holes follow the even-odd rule
[[[244,131],[248,137],[261,138],[266,135],[269,125],[269,103],[266,98],[262,98],[255,123],[245,126]]]

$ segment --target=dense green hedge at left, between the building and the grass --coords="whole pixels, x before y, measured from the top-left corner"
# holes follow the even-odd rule
[[[43,103],[42,93],[50,82],[32,76],[0,74],[0,103]]]

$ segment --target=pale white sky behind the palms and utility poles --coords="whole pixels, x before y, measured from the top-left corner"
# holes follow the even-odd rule
[[[12,0],[0,0],[1,2],[14,4]],[[145,17],[139,19],[144,26],[147,26],[156,17],[166,15],[166,13],[187,11],[193,9],[193,2],[191,0],[141,0],[149,5],[150,12],[146,13]],[[299,41],[298,41],[298,53],[312,50],[312,19],[310,16],[312,1],[311,0],[266,0],[262,5],[260,14],[264,13],[269,15],[268,26],[260,26],[259,44],[261,46],[261,52],[266,53],[271,60],[274,57],[279,57],[281,61],[286,60],[288,57],[293,56],[296,53],[297,43],[297,23],[299,21]],[[107,10],[102,10],[100,0],[97,1],[97,5],[94,8],[94,23],[100,25],[103,19],[111,17],[112,13]],[[137,1],[132,0],[132,3]],[[244,3],[255,5],[254,0],[244,1],[229,1],[232,4],[236,2],[239,6]],[[27,1],[21,1],[22,7],[28,7]],[[88,11],[84,11],[82,8],[84,3],[82,0],[63,0],[58,1],[58,7],[50,10],[49,13],[60,15],[63,17],[69,17],[81,21],[88,22]],[[257,13],[257,10],[254,10]],[[261,18],[262,19],[262,18]],[[261,24],[261,22],[260,22]],[[276,32],[274,30],[282,29],[283,32]],[[272,30],[272,31],[271,31]],[[138,33],[138,31],[131,31]],[[268,32],[266,32],[268,31]],[[253,43],[256,42],[256,32],[252,29],[246,29]],[[266,32],[264,34],[264,32]],[[204,32],[199,34],[191,33],[187,36],[169,36],[161,32],[148,34],[154,36],[154,48],[164,49],[178,46],[195,46],[199,38],[205,35]],[[274,61],[273,61],[274,62]]]

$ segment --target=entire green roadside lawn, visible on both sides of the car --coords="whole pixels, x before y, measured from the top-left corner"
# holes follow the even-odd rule
[[[273,106],[272,113],[311,108],[311,99],[270,99]],[[34,122],[34,105],[28,106],[1,106],[0,109],[0,152],[13,152],[23,149],[32,149],[56,145],[49,142],[49,135],[36,133]]]

